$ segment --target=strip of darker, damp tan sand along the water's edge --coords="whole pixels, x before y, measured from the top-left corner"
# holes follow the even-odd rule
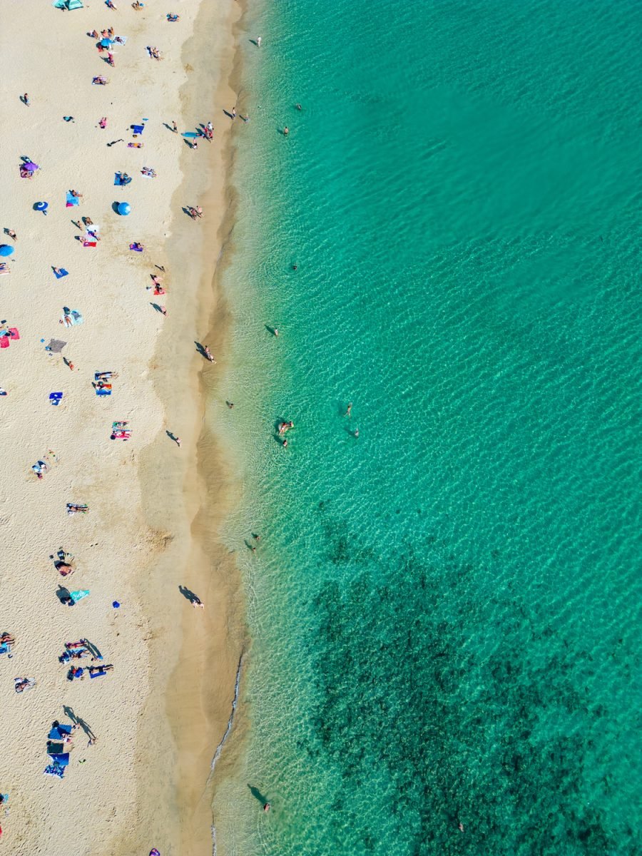
[[[229,555],[217,538],[217,531],[225,520],[238,485],[235,484],[234,468],[223,460],[220,438],[212,426],[207,424],[206,413],[208,401],[217,395],[217,389],[222,383],[221,367],[224,366],[224,360],[218,355],[225,350],[230,333],[230,318],[220,288],[220,276],[230,261],[226,249],[235,223],[235,191],[231,184],[234,142],[233,126],[230,123],[226,127],[225,123],[229,120],[225,116],[221,120],[220,116],[229,98],[236,98],[232,86],[235,73],[238,73],[240,56],[236,36],[244,13],[244,6],[235,3],[229,15],[221,15],[218,24],[225,35],[217,45],[217,55],[220,53],[222,56],[208,68],[191,72],[181,87],[182,110],[187,113],[190,110],[202,110],[202,104],[198,104],[199,92],[213,90],[215,138],[212,151],[208,152],[205,193],[197,192],[199,184],[203,182],[199,181],[195,172],[183,173],[172,200],[175,217],[167,249],[174,270],[187,270],[189,273],[198,271],[198,285],[193,294],[193,305],[185,314],[185,327],[196,331],[195,342],[210,345],[212,353],[217,356],[217,367],[203,360],[192,343],[194,336],[187,336],[185,341],[189,342],[192,356],[189,360],[188,401],[185,406],[186,394],[177,395],[175,392],[172,360],[163,358],[163,349],[168,344],[167,335],[159,337],[155,355],[159,372],[154,386],[163,401],[166,421],[169,425],[175,419],[173,414],[177,415],[181,410],[193,417],[187,431],[181,427],[183,442],[187,437],[186,445],[195,451],[190,453],[187,467],[181,473],[181,487],[175,485],[181,493],[179,502],[185,503],[185,508],[179,513],[180,520],[175,519],[173,524],[169,522],[172,515],[168,515],[165,498],[160,490],[154,490],[155,486],[160,486],[156,484],[155,475],[153,447],[156,443],[146,449],[148,460],[143,462],[141,468],[141,480],[146,483],[144,492],[148,496],[146,518],[150,525],[155,528],[155,524],[163,520],[165,528],[180,532],[174,536],[169,549],[158,557],[158,569],[154,577],[166,580],[168,575],[172,575],[175,586],[184,584],[193,589],[206,604],[202,614],[199,610],[194,612],[185,609],[180,627],[172,627],[173,642],[179,649],[174,663],[168,663],[167,636],[163,636],[162,642],[152,640],[154,688],[150,693],[149,710],[145,717],[149,717],[150,722],[148,734],[158,734],[156,726],[151,723],[158,723],[159,717],[169,730],[174,755],[173,773],[171,770],[166,771],[166,775],[169,773],[169,782],[163,789],[169,805],[175,804],[176,823],[173,826],[178,832],[175,846],[186,856],[211,853],[212,846],[216,847],[213,842],[215,832],[211,809],[215,787],[214,764],[223,743],[229,738],[230,711],[239,690],[241,662],[246,645],[241,574],[234,557]],[[223,17],[224,21],[221,20]],[[217,12],[202,3],[194,33],[183,45],[181,62],[184,67],[196,68],[197,62],[211,57],[211,39],[208,36],[213,31],[215,18]],[[214,86],[211,86],[212,83]],[[223,134],[220,133],[221,128]],[[183,162],[189,163],[191,156],[192,152],[186,148],[181,166]],[[199,175],[202,177],[202,171]],[[191,199],[193,204],[204,207],[205,217],[201,223],[192,223],[179,213],[181,206]],[[208,211],[217,212],[215,222],[213,217],[208,217]],[[188,241],[186,249],[184,241],[193,232],[198,237]],[[198,262],[189,258],[189,247],[193,243],[198,246]],[[162,446],[162,436],[157,438],[157,443]],[[185,445],[182,449],[185,449]],[[185,549],[188,556],[185,564],[189,570],[176,575],[176,563],[180,567],[183,561],[181,552]],[[141,587],[144,595],[147,587]],[[210,671],[211,663],[214,663],[214,674]],[[156,693],[163,699],[163,710],[158,710],[154,698]],[[150,766],[156,765],[159,773],[163,769],[163,764],[156,760],[155,752],[158,752],[157,746],[152,746],[146,753],[148,763],[137,784],[137,791],[146,794],[144,800],[148,803]],[[158,777],[158,781],[162,781],[162,776]],[[156,805],[156,800],[152,800],[154,813]]]

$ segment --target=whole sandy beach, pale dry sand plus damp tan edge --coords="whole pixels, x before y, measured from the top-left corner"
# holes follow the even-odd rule
[[[18,331],[0,351],[0,633],[15,639],[0,656],[0,842],[15,854],[211,853],[211,758],[243,646],[215,534],[233,473],[203,430],[217,365],[198,348],[217,356],[225,342],[214,282],[231,228],[223,109],[241,9],[116,6],[0,10],[0,228],[15,232],[0,235],[14,247],[0,333]],[[113,68],[89,35],[109,27],[124,41],[109,46]],[[193,150],[182,133],[210,121],[213,140]],[[67,206],[72,191],[80,204]],[[196,205],[203,220],[184,211]],[[60,662],[80,640],[87,656]],[[35,685],[17,693],[15,678]],[[76,726],[73,749],[56,752],[68,765],[47,754],[56,721]]]

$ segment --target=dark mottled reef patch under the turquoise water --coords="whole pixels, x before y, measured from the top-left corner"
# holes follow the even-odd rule
[[[342,771],[332,805],[342,852],[375,852],[351,794],[392,782],[395,853],[639,853],[631,829],[615,841],[600,808],[609,782],[596,784],[591,764],[607,711],[591,698],[580,641],[550,627],[544,605],[509,589],[480,595],[475,568],[454,555],[428,561],[409,548],[393,566],[343,523],[325,520],[324,534],[325,561],[353,576],[321,584],[312,604],[308,752]]]

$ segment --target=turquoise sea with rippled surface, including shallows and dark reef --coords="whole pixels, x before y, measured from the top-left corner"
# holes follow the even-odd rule
[[[251,9],[220,852],[642,852],[640,39],[624,0]]]

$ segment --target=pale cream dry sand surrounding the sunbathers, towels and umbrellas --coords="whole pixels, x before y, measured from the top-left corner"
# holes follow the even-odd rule
[[[216,11],[221,44],[212,44],[208,62],[213,67],[223,58],[230,60],[229,7],[235,4],[216,5],[221,7]],[[154,297],[146,286],[151,285],[151,273],[163,276],[154,265],[168,265],[165,252],[171,255],[171,239],[166,239],[172,218],[178,217],[177,232],[204,226],[181,213],[181,205],[201,200],[175,195],[182,180],[179,159],[181,168],[193,163],[206,175],[217,157],[220,161],[220,138],[230,123],[223,121],[220,108],[215,115],[211,90],[200,93],[200,115],[181,119],[181,109],[191,104],[179,92],[189,76],[181,62],[181,44],[192,32],[199,3],[183,0],[162,6],[147,0],[144,11],[122,0],[116,0],[116,6],[116,12],[97,0],[71,12],[53,9],[48,0],[0,6],[0,229],[15,229],[18,235],[8,260],[11,273],[0,276],[0,319],[6,318],[21,336],[0,350],[0,387],[8,392],[0,398],[0,633],[12,633],[16,639],[13,657],[0,657],[0,793],[9,794],[6,816],[5,806],[0,807],[0,842],[6,853],[16,856],[148,853],[154,846],[163,856],[178,853],[154,835],[162,830],[178,841],[170,827],[182,823],[181,811],[190,809],[185,808],[187,798],[179,809],[169,805],[175,744],[167,722],[157,722],[158,731],[151,730],[154,716],[164,716],[164,704],[162,699],[149,702],[150,688],[158,689],[163,675],[152,675],[151,664],[158,666],[158,657],[152,663],[148,643],[152,633],[163,635],[163,621],[167,627],[181,620],[191,625],[204,614],[190,609],[176,591],[176,580],[191,582],[185,561],[167,580],[168,591],[162,596],[158,591],[155,603],[140,597],[145,591],[140,577],[151,585],[159,550],[173,538],[186,543],[198,498],[188,498],[185,508],[173,509],[165,526],[152,528],[143,514],[146,488],[141,489],[139,462],[153,442],[153,489],[167,488],[173,502],[179,502],[195,465],[198,390],[187,384],[183,409],[175,411],[180,425],[167,425],[166,402],[152,385],[154,372],[163,367],[154,349],[160,331],[167,341],[168,330],[175,330],[181,347],[172,342],[168,349],[176,382],[203,368],[193,348],[199,335],[195,312],[199,288],[211,278],[211,270],[195,268],[195,282],[185,282],[184,270],[168,269],[163,282],[168,294],[163,297]],[[179,12],[181,21],[168,23],[169,11]],[[128,37],[127,45],[113,51],[116,68],[101,60],[95,39],[86,35],[94,27],[100,31],[110,26]],[[150,59],[146,45],[158,46],[163,61]],[[109,86],[92,86],[95,74],[104,74]],[[19,100],[23,92],[31,99],[28,107]],[[64,122],[62,116],[74,116],[74,122]],[[106,130],[97,127],[101,116],[108,117]],[[149,121],[139,140],[145,147],[127,148],[127,142],[134,141],[129,126],[144,117]],[[180,135],[163,127],[174,119],[181,131],[211,119],[216,144],[201,141],[198,152],[188,151]],[[118,138],[125,142],[106,146]],[[33,180],[20,178],[21,156],[39,164]],[[156,169],[158,178],[143,177],[143,165]],[[114,186],[118,170],[133,177],[128,187]],[[218,176],[219,191],[221,186]],[[69,189],[83,194],[80,206],[65,207]],[[49,202],[46,217],[33,211],[39,200]],[[128,217],[112,211],[113,203],[122,200],[131,205]],[[205,213],[212,230],[222,206]],[[80,231],[72,220],[82,216],[101,227],[96,248],[75,240]],[[193,232],[197,251],[205,234],[203,229]],[[0,240],[12,242],[1,235]],[[130,252],[131,241],[141,241],[146,252]],[[213,254],[206,257],[210,265]],[[69,276],[56,280],[52,266],[65,267]],[[168,317],[156,312],[152,302],[167,306]],[[84,324],[69,329],[59,324],[63,306],[79,310]],[[50,338],[68,343],[62,355],[45,352]],[[63,356],[74,364],[73,371]],[[94,394],[92,379],[98,370],[118,374],[110,397]],[[58,407],[48,399],[54,391],[64,394]],[[128,442],[110,440],[116,419],[131,422]],[[165,436],[166,429],[181,436],[181,449]],[[31,467],[49,449],[57,463],[39,480]],[[68,516],[67,502],[86,502],[90,511]],[[176,526],[182,526],[181,532]],[[75,556],[75,572],[64,580],[49,559],[60,547]],[[89,589],[91,595],[69,608],[56,597],[59,584]],[[168,614],[158,615],[163,597]],[[114,600],[122,603],[120,609],[112,608]],[[168,638],[171,632],[167,630]],[[114,670],[96,680],[69,682],[68,665],[57,658],[64,642],[80,638],[97,645],[104,663],[113,663]],[[175,666],[176,656],[175,650],[168,652],[168,668]],[[37,685],[16,694],[13,679],[22,675],[35,678]],[[229,686],[229,698],[232,691]],[[225,696],[223,688],[222,693]],[[223,708],[227,701],[223,698]],[[88,723],[98,742],[87,746],[86,734],[79,729],[61,781],[43,771],[49,763],[51,722],[69,721],[64,705]],[[146,731],[141,734],[140,728]],[[154,747],[164,758],[159,767],[164,768],[167,787],[150,790],[155,798],[168,800],[167,805],[151,805],[141,787],[141,757],[149,758]],[[205,754],[209,751],[205,746]],[[82,759],[86,761],[80,764]]]

